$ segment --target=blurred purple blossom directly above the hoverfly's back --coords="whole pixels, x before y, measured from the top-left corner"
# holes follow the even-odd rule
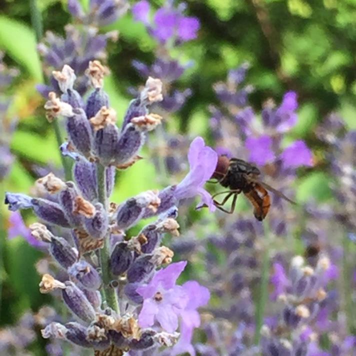
[[[268,135],[259,137],[248,137],[245,147],[249,151],[248,160],[258,165],[264,165],[275,158],[271,149],[272,138]]]

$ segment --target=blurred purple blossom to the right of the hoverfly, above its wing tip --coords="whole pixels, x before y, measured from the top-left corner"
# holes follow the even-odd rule
[[[280,154],[284,168],[297,168],[301,165],[312,166],[310,149],[303,140],[296,140]]]

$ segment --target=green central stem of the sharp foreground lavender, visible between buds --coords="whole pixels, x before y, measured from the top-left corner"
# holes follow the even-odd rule
[[[100,163],[96,166],[97,174],[97,191],[98,191],[98,200],[104,205],[105,210],[108,209],[108,200],[106,195],[106,168]],[[113,310],[119,312],[116,289],[110,286],[110,281],[112,279],[110,268],[109,268],[109,259],[110,259],[110,240],[109,234],[104,237],[104,245],[99,249],[99,261],[101,267],[101,276],[102,276],[102,287],[101,295],[104,296],[107,306]]]

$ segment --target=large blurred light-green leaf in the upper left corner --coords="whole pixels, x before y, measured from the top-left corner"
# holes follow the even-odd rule
[[[23,23],[0,16],[0,48],[22,64],[29,74],[42,82],[42,70],[33,31]]]

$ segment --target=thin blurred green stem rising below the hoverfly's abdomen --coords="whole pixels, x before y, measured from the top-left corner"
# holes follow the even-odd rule
[[[255,301],[255,314],[256,314],[256,328],[254,332],[254,343],[259,344],[261,337],[261,327],[263,325],[264,310],[268,299],[268,280],[269,280],[269,226],[267,222],[264,223],[264,248],[263,259],[261,265],[261,279],[259,282],[259,290]]]

